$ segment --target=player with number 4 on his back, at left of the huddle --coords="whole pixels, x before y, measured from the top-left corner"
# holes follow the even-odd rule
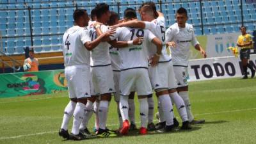
[[[65,31],[63,35],[63,56],[65,77],[68,83],[68,102],[59,135],[71,140],[83,140],[85,136],[79,133],[79,125],[84,118],[84,108],[90,92],[90,52],[109,33],[99,36],[91,42],[88,35],[88,14],[85,10],[76,10],[73,14],[75,26]],[[71,134],[68,134],[68,122],[74,115]]]

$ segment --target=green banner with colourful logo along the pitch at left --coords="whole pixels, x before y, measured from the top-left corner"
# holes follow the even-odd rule
[[[0,98],[67,92],[64,70],[0,74]]]

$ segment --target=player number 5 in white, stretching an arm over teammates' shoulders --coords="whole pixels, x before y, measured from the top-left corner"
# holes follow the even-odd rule
[[[125,22],[122,24],[119,24],[119,26],[132,26],[132,27],[138,27],[138,28],[146,28],[150,29],[154,35],[156,35],[158,38],[160,38],[163,41],[163,44],[165,44],[165,22],[164,22],[164,16],[163,13],[157,13],[156,12],[156,6],[153,2],[146,2],[142,5],[140,9],[141,13],[141,19],[145,20],[140,21],[130,21],[130,22]],[[157,17],[157,15],[159,15]],[[149,56],[152,56],[154,54],[154,45],[148,45],[150,51],[149,51]],[[152,86],[156,91],[158,100],[159,100],[159,111],[160,113],[160,122],[157,125],[157,129],[161,129],[165,127],[163,130],[164,131],[171,131],[172,127],[170,126],[170,123],[173,124],[172,118],[174,120],[175,126],[179,126],[179,122],[174,118],[173,112],[172,116],[170,116],[170,113],[167,113],[166,109],[171,108],[172,109],[172,102],[169,100],[170,97],[173,99],[175,102],[175,105],[177,106],[177,109],[180,113],[180,117],[182,118],[182,129],[191,129],[189,122],[188,122],[188,116],[186,113],[186,108],[184,108],[184,101],[182,98],[179,96],[177,93],[176,89],[177,84],[175,81],[175,76],[173,72],[173,66],[172,66],[172,58],[168,56],[166,53],[166,48],[164,46],[164,49],[162,50],[162,56],[160,57],[159,60],[159,65],[157,67],[150,67],[149,68],[149,74],[150,74],[150,79],[152,82]],[[170,90],[168,90],[170,89]],[[169,101],[168,101],[168,100]],[[171,105],[168,108],[168,104],[166,105],[165,102],[169,102]],[[165,114],[164,114],[165,113]],[[165,115],[165,116],[164,116]],[[166,116],[167,115],[167,116]],[[166,118],[167,122],[166,122]],[[166,126],[167,125],[169,126]]]

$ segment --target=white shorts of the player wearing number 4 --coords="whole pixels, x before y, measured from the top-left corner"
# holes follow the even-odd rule
[[[73,65],[65,67],[65,77],[67,79],[70,99],[91,97],[91,74],[89,66]]]

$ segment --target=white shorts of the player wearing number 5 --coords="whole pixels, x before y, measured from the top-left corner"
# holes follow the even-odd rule
[[[156,67],[149,67],[148,73],[152,88],[157,90],[177,88],[177,82],[173,72],[172,61],[158,63]]]

